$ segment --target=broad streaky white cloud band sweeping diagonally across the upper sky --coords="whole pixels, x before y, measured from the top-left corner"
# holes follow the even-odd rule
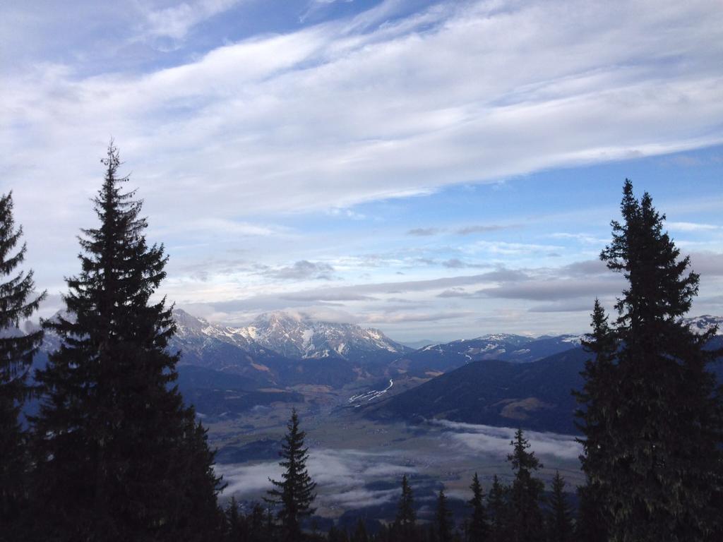
[[[184,35],[229,5],[181,4],[154,28]],[[223,218],[345,208],[709,145],[723,139],[716,7],[466,1],[363,33],[359,16],[244,40],[149,74],[37,66],[4,82],[1,167],[16,173],[3,182],[64,207],[112,133],[149,202],[174,194],[158,220],[179,223],[199,207]],[[651,38],[663,35],[664,46]]]

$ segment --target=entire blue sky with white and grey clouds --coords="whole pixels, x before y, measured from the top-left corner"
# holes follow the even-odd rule
[[[62,306],[111,137],[159,295],[398,340],[585,332],[623,181],[723,315],[723,10],[697,1],[0,4],[0,191]]]

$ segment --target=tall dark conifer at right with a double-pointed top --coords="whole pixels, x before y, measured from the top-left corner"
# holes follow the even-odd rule
[[[612,377],[589,374],[586,382],[588,392],[614,384],[602,403],[611,401],[614,416],[603,417],[610,423],[599,435],[590,429],[598,408],[583,424],[599,446],[586,444],[586,470],[602,489],[613,540],[711,539],[723,487],[722,400],[707,370],[720,352],[704,349],[715,330],[696,335],[681,321],[698,275],[686,274],[690,260],[663,231],[650,195],[638,201],[626,180],[621,212],[601,253],[628,281],[616,304],[619,348]]]

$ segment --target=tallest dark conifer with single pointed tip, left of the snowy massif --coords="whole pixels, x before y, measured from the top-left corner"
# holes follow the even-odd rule
[[[141,202],[123,192],[119,155],[83,230],[67,312],[46,322],[61,338],[36,379],[37,538],[54,541],[215,540],[219,479],[205,430],[176,386],[176,327],[165,299],[163,246],[149,246]]]

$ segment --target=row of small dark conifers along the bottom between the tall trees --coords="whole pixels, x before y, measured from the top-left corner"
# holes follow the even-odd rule
[[[281,508],[273,514],[272,507],[260,503],[241,512],[232,498],[224,510],[226,542],[299,541],[309,542],[572,542],[589,521],[578,517],[565,493],[565,481],[559,471],[552,480],[552,491],[544,495],[544,482],[536,476],[542,464],[529,451],[530,444],[523,431],[515,431],[510,442],[512,453],[508,462],[513,481],[502,483],[495,475],[487,495],[475,473],[469,486],[471,498],[466,502],[468,513],[454,517],[444,489],[436,495],[432,521],[421,522],[417,517],[414,491],[406,475],[401,478],[401,493],[393,521],[372,522],[372,528],[360,518],[354,528],[346,530],[332,526],[328,533],[318,533],[309,516],[315,512],[315,484],[307,473],[307,454],[304,431],[299,429],[296,412],[288,424],[283,445],[281,465],[283,481],[271,481],[276,489],[266,499]],[[307,532],[301,526],[306,518]],[[275,520],[278,519],[278,522]]]

